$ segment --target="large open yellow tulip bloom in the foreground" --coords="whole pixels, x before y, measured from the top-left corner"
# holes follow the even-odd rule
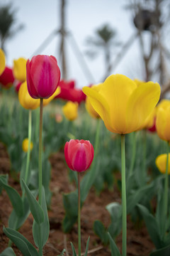
[[[109,131],[128,134],[142,129],[159,101],[161,89],[157,82],[137,86],[125,75],[110,75],[98,92],[90,87],[84,87],[83,92]]]

